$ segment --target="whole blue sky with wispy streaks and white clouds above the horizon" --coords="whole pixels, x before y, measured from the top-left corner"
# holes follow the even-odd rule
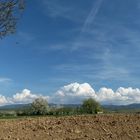
[[[30,0],[0,40],[0,105],[140,103],[139,0]]]

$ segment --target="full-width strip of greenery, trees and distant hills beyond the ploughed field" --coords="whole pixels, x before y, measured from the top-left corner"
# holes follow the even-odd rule
[[[136,109],[134,107],[137,107]],[[99,113],[140,113],[138,105],[128,106],[101,106],[93,98],[83,101],[81,105],[57,106],[48,105],[47,100],[43,98],[35,99],[31,104],[20,106],[19,108],[0,110],[0,118],[20,118],[28,116],[67,116],[67,115],[82,115],[82,114],[99,114]]]

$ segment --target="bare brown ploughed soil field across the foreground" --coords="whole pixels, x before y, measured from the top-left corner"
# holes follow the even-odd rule
[[[140,140],[140,115],[0,120],[0,140]]]

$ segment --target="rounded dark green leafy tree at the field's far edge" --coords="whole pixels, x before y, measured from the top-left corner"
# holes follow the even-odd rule
[[[93,98],[89,98],[83,101],[82,110],[84,113],[93,114],[102,111],[102,107]]]

